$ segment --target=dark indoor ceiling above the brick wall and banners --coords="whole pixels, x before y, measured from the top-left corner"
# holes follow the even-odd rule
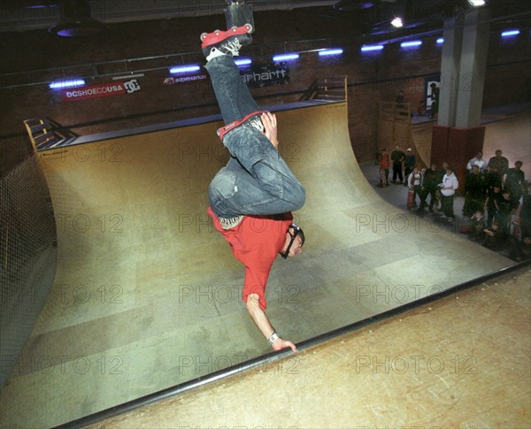
[[[467,0],[246,0],[255,11],[312,8],[322,19],[347,20],[359,35],[396,36],[440,29],[443,20],[471,8]],[[529,29],[531,2],[486,0],[490,20],[504,27]],[[106,25],[151,19],[181,19],[223,13],[224,0],[4,0],[0,31],[21,32],[57,27],[77,28],[71,35],[90,35]],[[390,26],[394,16],[404,27]]]

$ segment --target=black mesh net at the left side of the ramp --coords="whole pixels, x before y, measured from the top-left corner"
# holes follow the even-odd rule
[[[37,155],[0,180],[0,388],[50,293],[57,234]]]

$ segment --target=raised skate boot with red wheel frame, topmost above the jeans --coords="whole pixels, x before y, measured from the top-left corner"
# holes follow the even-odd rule
[[[250,32],[252,26],[245,24],[242,27],[232,27],[227,31],[216,30],[213,33],[201,34],[201,49],[204,57],[209,57],[212,50],[219,50],[222,54],[237,57],[240,55],[242,46],[248,45],[252,41]]]

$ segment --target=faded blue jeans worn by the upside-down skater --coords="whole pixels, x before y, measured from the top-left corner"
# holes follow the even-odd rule
[[[259,111],[231,56],[205,65],[225,124]],[[273,215],[304,205],[303,185],[267,137],[251,126],[237,126],[223,144],[231,154],[209,187],[212,211],[221,218]]]

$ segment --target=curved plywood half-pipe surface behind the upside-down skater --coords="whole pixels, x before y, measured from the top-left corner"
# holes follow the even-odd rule
[[[346,103],[278,116],[282,155],[307,190],[304,253],[279,259],[267,287],[283,337],[304,341],[512,264],[382,201],[353,156]],[[227,162],[219,125],[42,152],[58,274],[0,393],[3,425],[58,425],[270,351],[241,302],[242,265],[205,212]]]

